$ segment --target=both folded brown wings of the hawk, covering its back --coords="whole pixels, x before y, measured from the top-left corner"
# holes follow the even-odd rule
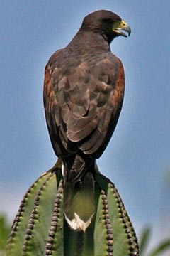
[[[124,73],[112,53],[80,60],[59,50],[45,68],[47,127],[57,156],[98,158],[106,148],[123,103]]]

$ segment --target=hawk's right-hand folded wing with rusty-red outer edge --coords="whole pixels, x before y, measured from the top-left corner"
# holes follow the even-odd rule
[[[119,58],[108,53],[91,70],[91,100],[97,109],[97,127],[80,143],[80,149],[95,159],[106,149],[118,122],[123,105],[125,76]]]

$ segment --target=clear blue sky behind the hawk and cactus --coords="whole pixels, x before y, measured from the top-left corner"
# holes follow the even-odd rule
[[[120,191],[137,232],[170,235],[170,2],[1,1],[0,210],[13,218],[28,187],[55,163],[42,103],[44,68],[91,11],[109,9],[132,29],[111,49],[125,67],[125,100],[98,161]],[[157,223],[157,225],[155,225]],[[164,228],[163,228],[164,227]],[[164,234],[162,234],[164,230]]]

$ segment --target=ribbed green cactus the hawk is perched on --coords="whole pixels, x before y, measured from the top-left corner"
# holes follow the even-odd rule
[[[96,213],[86,232],[69,228],[63,214],[62,171],[42,174],[21,201],[7,256],[137,256],[139,247],[114,184],[95,174]]]

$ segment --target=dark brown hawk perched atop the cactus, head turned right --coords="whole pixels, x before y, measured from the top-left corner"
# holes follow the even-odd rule
[[[96,159],[106,149],[123,105],[123,64],[110,44],[129,35],[130,26],[120,16],[94,11],[45,67],[47,128],[64,166],[64,215],[75,230],[85,231],[93,218]]]

